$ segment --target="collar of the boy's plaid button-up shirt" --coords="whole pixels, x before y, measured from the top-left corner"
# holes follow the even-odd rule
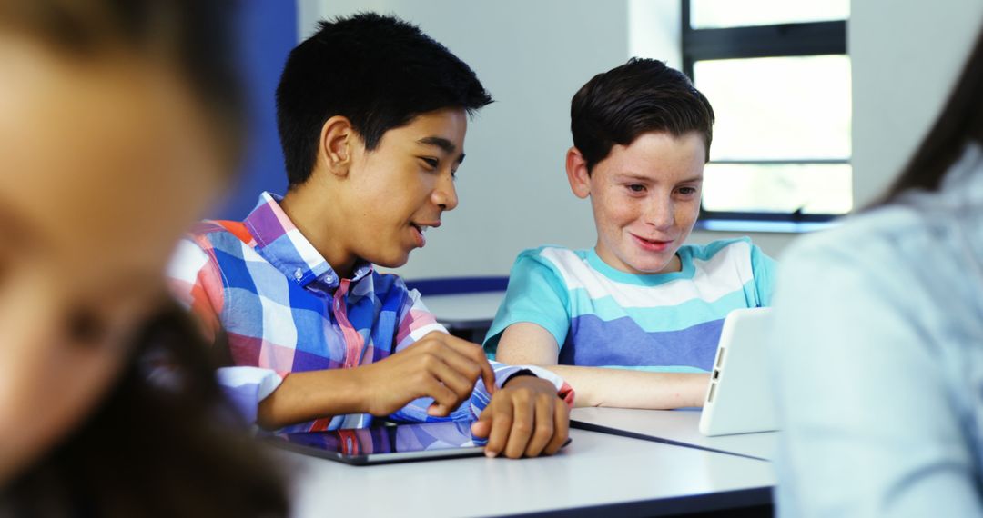
[[[243,222],[256,239],[256,251],[302,287],[316,282],[326,289],[338,287],[340,280],[334,269],[280,208],[282,199],[283,196],[262,192],[256,208]],[[371,272],[372,264],[360,259],[355,263],[352,280],[359,281]]]

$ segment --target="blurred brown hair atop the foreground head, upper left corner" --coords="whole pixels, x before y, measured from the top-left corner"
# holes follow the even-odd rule
[[[67,59],[128,56],[170,68],[202,107],[233,172],[246,135],[229,0],[0,0],[0,30]]]

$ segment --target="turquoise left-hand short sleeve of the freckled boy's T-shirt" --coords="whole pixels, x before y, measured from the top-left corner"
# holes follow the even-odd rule
[[[485,351],[492,358],[501,333],[519,322],[543,327],[560,347],[566,340],[570,329],[569,297],[556,267],[540,255],[540,250],[520,253],[512,265],[505,299],[485,338]]]

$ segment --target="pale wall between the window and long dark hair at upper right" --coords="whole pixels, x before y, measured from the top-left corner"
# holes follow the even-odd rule
[[[983,22],[983,2],[858,0],[850,9],[853,196],[862,207],[934,122]]]

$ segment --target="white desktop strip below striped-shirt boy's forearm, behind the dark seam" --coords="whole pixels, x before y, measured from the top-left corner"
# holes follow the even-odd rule
[[[588,430],[627,433],[652,440],[670,440],[739,455],[774,459],[778,432],[706,437],[700,433],[699,410],[636,410],[630,408],[575,408],[570,420]]]

